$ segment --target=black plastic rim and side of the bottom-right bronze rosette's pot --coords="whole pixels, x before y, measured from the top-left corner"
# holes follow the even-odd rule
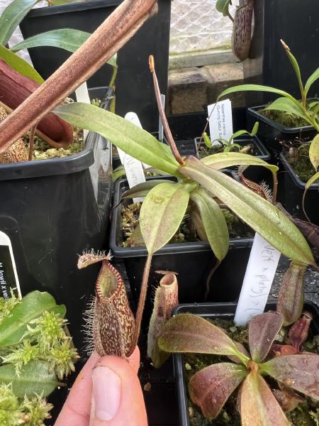
[[[174,314],[191,313],[200,317],[209,318],[211,320],[223,318],[223,320],[233,320],[236,310],[235,303],[201,303],[179,305]],[[313,314],[311,331],[313,334],[319,333],[319,308],[313,302],[305,302],[305,310]],[[274,302],[267,303],[266,310],[275,310]],[[174,375],[177,383],[177,399],[179,403],[179,420],[180,426],[190,426],[189,410],[187,405],[186,376],[184,370],[183,356],[181,354],[173,354]]]

